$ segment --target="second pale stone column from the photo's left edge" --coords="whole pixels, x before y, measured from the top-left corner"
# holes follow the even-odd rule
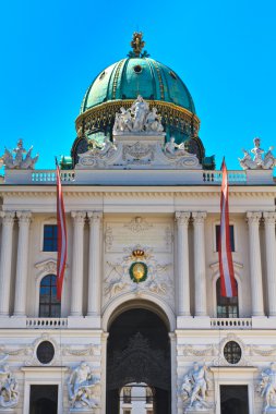
[[[16,216],[19,219],[19,244],[16,260],[14,316],[25,316],[27,294],[28,234],[32,214],[31,211],[17,211]]]

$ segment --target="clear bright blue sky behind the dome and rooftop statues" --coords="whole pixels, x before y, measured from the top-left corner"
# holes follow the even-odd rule
[[[275,16],[274,0],[1,1],[0,153],[22,137],[37,168],[69,155],[86,88],[139,29],[190,89],[206,155],[239,169],[254,136],[276,145]]]

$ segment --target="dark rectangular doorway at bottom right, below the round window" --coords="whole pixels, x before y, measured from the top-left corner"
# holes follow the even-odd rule
[[[248,386],[220,386],[221,414],[249,414]]]

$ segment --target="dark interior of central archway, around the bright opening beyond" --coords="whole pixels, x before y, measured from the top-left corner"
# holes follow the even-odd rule
[[[171,413],[168,327],[148,308],[129,308],[109,327],[107,414],[119,414],[120,392],[129,383],[145,383],[154,390],[154,414]]]

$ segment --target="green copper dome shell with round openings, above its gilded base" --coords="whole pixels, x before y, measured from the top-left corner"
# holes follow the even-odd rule
[[[151,58],[134,57],[111,64],[87,89],[81,113],[112,100],[159,100],[195,113],[193,99],[181,78],[168,66]]]

